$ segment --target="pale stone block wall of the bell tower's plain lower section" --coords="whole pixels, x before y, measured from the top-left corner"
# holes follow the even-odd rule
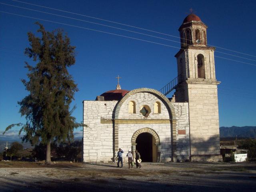
[[[191,155],[220,154],[217,84],[188,82]]]

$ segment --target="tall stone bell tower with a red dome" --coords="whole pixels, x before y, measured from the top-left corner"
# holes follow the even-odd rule
[[[207,46],[207,26],[189,14],[179,28],[181,49],[175,55],[182,82],[176,102],[188,102],[191,161],[222,161],[218,114],[220,84],[215,76],[214,47]]]

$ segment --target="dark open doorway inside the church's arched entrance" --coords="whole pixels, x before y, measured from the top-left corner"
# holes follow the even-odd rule
[[[136,138],[136,150],[140,153],[143,162],[153,161],[152,140],[152,134],[150,133],[141,133]]]

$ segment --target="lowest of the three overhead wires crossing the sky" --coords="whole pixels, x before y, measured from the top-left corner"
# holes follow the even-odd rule
[[[30,17],[30,16],[24,16],[24,15],[14,14],[14,13],[10,13],[10,12],[4,12],[4,11],[0,11],[0,12],[2,12],[2,13],[7,13],[7,14],[12,14],[12,15],[16,15],[16,16],[21,16],[21,17],[26,17],[26,18],[32,18],[32,19],[37,19],[37,20],[42,20],[42,21],[47,21],[47,22],[52,22],[52,23],[62,24],[62,25],[66,25],[66,26],[72,26],[72,27],[77,27],[77,28],[87,29],[87,30],[91,30],[91,31],[102,32],[102,33],[106,33],[106,34],[111,34],[111,35],[116,35],[116,36],[120,36],[120,37],[125,37],[125,38],[130,38],[130,39],[140,40],[140,41],[149,42],[149,43],[158,44],[158,45],[163,45],[163,46],[167,46],[167,47],[178,48],[178,49],[180,49],[180,50],[186,50],[186,49],[184,49],[184,48],[180,48],[180,47],[176,47],[176,46],[170,46],[170,45],[166,45],[166,44],[162,44],[162,43],[157,43],[157,42],[152,42],[152,41],[148,41],[148,40],[143,40],[143,39],[133,38],[133,37],[124,36],[124,35],[119,35],[119,34],[115,34],[115,33],[110,33],[110,32],[105,32],[105,31],[100,31],[100,30],[95,30],[95,29],[85,28],[85,27],[81,27],[81,26],[70,25],[70,24],[66,24],[66,23],[55,22],[55,21],[51,21],[51,20],[45,20],[45,19],[40,19],[40,18],[35,18],[35,17]],[[256,64],[251,64],[251,63],[247,63],[247,62],[237,61],[237,60],[228,59],[228,58],[219,57],[219,56],[215,56],[215,57],[223,58],[223,59],[227,59],[227,60],[232,60],[232,61],[236,61],[236,62],[240,62],[240,63],[244,63],[244,64],[249,64],[249,65],[256,66]]]

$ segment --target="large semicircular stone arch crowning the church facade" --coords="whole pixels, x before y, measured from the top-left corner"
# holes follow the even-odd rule
[[[164,102],[168,108],[167,110],[169,111],[169,116],[170,116],[170,120],[176,120],[176,114],[174,112],[174,107],[172,106],[172,103],[169,101],[169,99],[164,96],[162,93],[160,93],[157,90],[154,89],[150,89],[150,88],[139,88],[139,89],[134,89],[131,90],[130,92],[128,92],[116,105],[116,108],[114,110],[114,119],[118,119],[119,116],[119,111],[120,108],[122,106],[122,104],[133,94],[139,93],[139,92],[148,92],[151,93],[155,96],[158,96],[158,98],[160,98],[162,100],[162,102]]]

